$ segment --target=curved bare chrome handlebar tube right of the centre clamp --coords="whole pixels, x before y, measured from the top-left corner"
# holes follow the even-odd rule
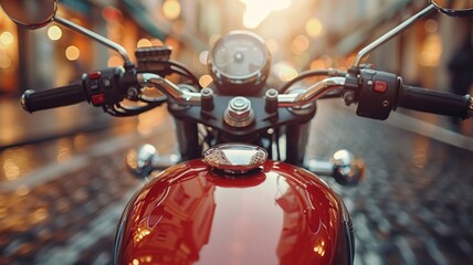
[[[280,107],[302,107],[317,98],[320,98],[330,91],[340,89],[345,86],[345,77],[325,78],[315,85],[296,94],[280,94],[277,102]]]

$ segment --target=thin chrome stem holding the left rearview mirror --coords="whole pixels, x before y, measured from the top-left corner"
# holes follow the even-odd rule
[[[75,24],[75,23],[73,23],[66,19],[63,19],[61,17],[57,17],[57,15],[54,17],[54,21],[57,22],[59,24],[66,26],[70,30],[73,30],[73,31],[76,31],[81,34],[90,36],[90,38],[94,39],[95,41],[106,45],[107,47],[111,47],[111,49],[115,50],[116,52],[118,52],[125,62],[125,68],[127,66],[133,65],[132,61],[128,57],[128,54],[126,53],[126,50],[122,45],[119,45],[118,43],[115,43],[115,42],[99,35],[99,34],[93,32],[93,31],[90,31],[90,30],[87,30],[87,29],[85,29],[78,24]]]

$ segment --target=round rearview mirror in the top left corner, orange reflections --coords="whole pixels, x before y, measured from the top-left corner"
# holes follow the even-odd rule
[[[57,10],[56,0],[0,0],[0,6],[12,21],[28,29],[46,25]]]

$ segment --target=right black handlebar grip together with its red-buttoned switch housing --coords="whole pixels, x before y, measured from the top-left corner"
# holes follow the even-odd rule
[[[387,119],[397,107],[459,118],[473,115],[470,95],[404,85],[401,77],[370,67],[347,75],[345,89],[356,94],[357,115],[374,119]]]

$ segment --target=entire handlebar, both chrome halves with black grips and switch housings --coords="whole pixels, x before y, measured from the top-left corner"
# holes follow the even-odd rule
[[[137,92],[136,86],[156,87],[178,105],[203,107],[208,98],[213,97],[213,93],[209,94],[208,88],[199,93],[176,85],[158,74],[128,73],[114,67],[84,74],[82,83],[42,92],[27,91],[21,104],[30,113],[84,100],[94,106],[113,106],[120,104],[125,96],[130,98],[125,94],[129,94],[129,87]],[[461,96],[403,85],[399,76],[372,68],[361,68],[356,75],[347,74],[346,77],[328,77],[307,89],[296,89],[288,94],[270,91],[271,93],[266,93],[266,103],[273,106],[272,109],[303,107],[336,91],[335,94],[343,95],[347,105],[358,103],[357,115],[368,118],[386,119],[397,107],[460,118],[473,116],[473,98],[470,95]],[[350,96],[347,97],[348,94]],[[139,100],[140,97],[134,96]],[[351,102],[347,102],[347,98],[351,98]],[[157,105],[150,107],[153,106]],[[135,110],[134,113],[136,114]]]

